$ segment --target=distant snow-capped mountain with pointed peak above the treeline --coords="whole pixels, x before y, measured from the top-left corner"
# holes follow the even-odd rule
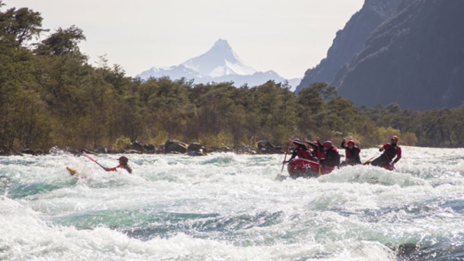
[[[256,86],[268,80],[284,82],[286,79],[274,71],[257,72],[247,66],[236,55],[226,40],[217,40],[206,53],[189,59],[184,63],[167,68],[155,68],[144,71],[136,77],[148,79],[150,77],[169,76],[171,79],[186,77],[194,79],[195,83],[233,81],[236,87],[245,83]],[[301,78],[289,79],[291,89],[300,83]]]

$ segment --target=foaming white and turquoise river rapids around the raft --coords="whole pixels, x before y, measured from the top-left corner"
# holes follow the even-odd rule
[[[296,180],[283,155],[0,157],[0,260],[464,260],[464,149],[403,151]]]

